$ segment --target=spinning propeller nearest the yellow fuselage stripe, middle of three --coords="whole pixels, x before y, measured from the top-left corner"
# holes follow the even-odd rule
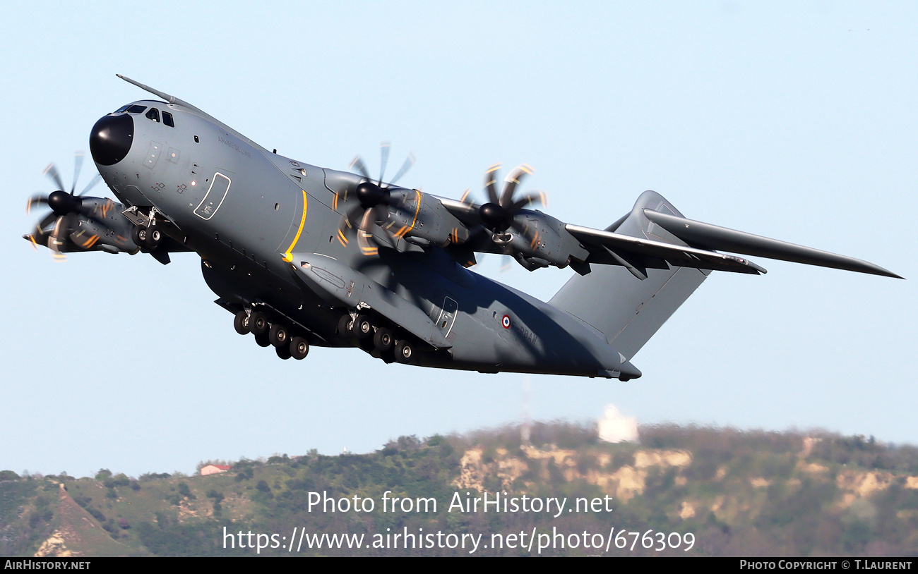
[[[396,187],[396,182],[409,171],[412,165],[414,165],[415,156],[413,153],[409,153],[408,158],[402,164],[395,177],[392,178],[392,181],[384,183],[383,177],[386,175],[386,163],[389,159],[390,147],[390,142],[384,141],[380,144],[379,179],[376,180],[376,182],[374,182],[374,178],[370,176],[370,172],[367,171],[366,164],[364,164],[364,160],[362,160],[360,156],[355,157],[350,165],[351,169],[359,171],[360,174],[364,176],[365,181],[360,182],[353,191],[353,195],[356,197],[358,203],[348,209],[341,218],[341,223],[338,224],[338,240],[341,242],[341,245],[347,245],[349,231],[351,229],[356,229],[357,245],[364,255],[376,255],[378,253],[378,248],[375,246],[373,239],[374,225],[379,224],[381,226],[386,233],[390,245],[394,246],[396,238],[400,237],[398,234],[393,234],[389,230],[391,224],[389,226],[385,225],[389,220],[389,208],[402,211],[406,214],[409,213],[403,206],[405,196],[399,193],[399,190],[402,188]],[[392,193],[393,190],[396,190],[396,193]],[[335,192],[332,208],[337,209],[339,201],[348,201],[347,189],[343,192]]]

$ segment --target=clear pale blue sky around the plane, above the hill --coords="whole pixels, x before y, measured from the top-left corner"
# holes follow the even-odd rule
[[[912,3],[31,3],[0,47],[7,328],[0,469],[75,476],[365,452],[521,418],[821,427],[918,444],[914,405],[918,7]],[[637,381],[281,361],[239,337],[192,254],[74,255],[20,236],[99,116],[148,97],[266,148],[355,154],[458,198],[528,162],[550,212],[603,227],[645,189],[687,216],[868,259],[907,278],[756,259],[714,273],[633,359]],[[84,166],[81,182],[93,169]],[[101,188],[100,188],[101,189]],[[482,272],[549,298],[569,270]],[[599,303],[598,303],[599,304]],[[606,304],[614,304],[614,294]],[[527,382],[528,381],[528,382]]]

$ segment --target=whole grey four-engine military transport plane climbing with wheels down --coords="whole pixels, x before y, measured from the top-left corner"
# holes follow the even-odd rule
[[[119,76],[120,77],[120,76]],[[759,274],[730,251],[888,277],[872,263],[684,217],[655,192],[605,229],[566,224],[518,194],[530,172],[487,171],[483,204],[399,187],[355,160],[319,168],[264,149],[185,103],[160,100],[99,119],[89,147],[110,199],[59,188],[25,236],[52,249],[201,257],[217,303],[282,359],[311,346],[359,347],[426,367],[640,377],[634,354],[712,270]],[[386,156],[382,161],[383,169]],[[468,270],[476,253],[528,270],[576,273],[547,303]]]

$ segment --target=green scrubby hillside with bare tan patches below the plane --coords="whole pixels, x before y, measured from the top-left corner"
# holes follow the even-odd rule
[[[3,471],[0,555],[918,555],[915,447],[675,425],[640,444],[563,423],[530,435],[402,436],[205,477]]]

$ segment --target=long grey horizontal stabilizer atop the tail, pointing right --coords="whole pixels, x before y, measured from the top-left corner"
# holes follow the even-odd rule
[[[793,261],[795,263],[806,263],[807,265],[819,265],[820,267],[831,267],[859,273],[870,273],[873,275],[883,275],[886,277],[896,277],[902,279],[899,275],[885,270],[879,265],[837,255],[820,249],[807,248],[778,239],[760,237],[727,227],[712,226],[709,223],[693,221],[676,215],[669,215],[653,209],[644,209],[644,215],[653,221],[656,225],[663,227],[669,233],[682,239],[692,246],[705,249],[718,249],[722,251],[731,251],[733,253],[742,253],[755,257],[765,257],[768,259],[780,259],[783,261]]]

